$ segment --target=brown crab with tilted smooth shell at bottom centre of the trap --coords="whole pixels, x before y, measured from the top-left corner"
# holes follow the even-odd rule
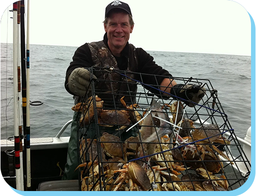
[[[118,191],[124,182],[130,184],[130,190],[134,189],[134,184],[148,191],[151,189],[151,183],[146,171],[137,163],[129,162],[123,164],[119,170],[114,170],[114,173],[120,172],[114,183],[118,183],[114,191]]]

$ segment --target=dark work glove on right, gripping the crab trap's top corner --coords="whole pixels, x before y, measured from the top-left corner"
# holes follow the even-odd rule
[[[185,100],[183,99],[179,99],[179,100],[186,103],[189,107],[193,107],[195,104],[192,102],[199,103],[201,98],[204,97],[204,94],[206,93],[205,91],[206,90],[204,87],[200,87],[199,85],[195,85],[195,84],[193,85],[192,84],[187,84],[187,85],[176,84],[171,88],[171,95],[178,97],[177,99],[179,98],[185,99]]]

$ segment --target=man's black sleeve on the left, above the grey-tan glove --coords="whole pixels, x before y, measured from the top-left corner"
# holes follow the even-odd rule
[[[71,72],[78,68],[78,67],[91,67],[92,66],[92,59],[91,59],[91,52],[88,47],[88,44],[84,44],[83,46],[79,47],[73,56],[73,61],[70,63],[66,71],[66,79],[65,79],[65,89],[71,94],[74,95],[68,87],[68,78]]]

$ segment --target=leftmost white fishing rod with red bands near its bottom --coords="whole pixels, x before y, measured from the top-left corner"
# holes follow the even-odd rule
[[[18,67],[17,67],[17,2],[13,3],[13,113],[14,113],[14,151],[16,189],[21,190],[20,184],[20,156],[19,156],[19,128],[18,128]]]

